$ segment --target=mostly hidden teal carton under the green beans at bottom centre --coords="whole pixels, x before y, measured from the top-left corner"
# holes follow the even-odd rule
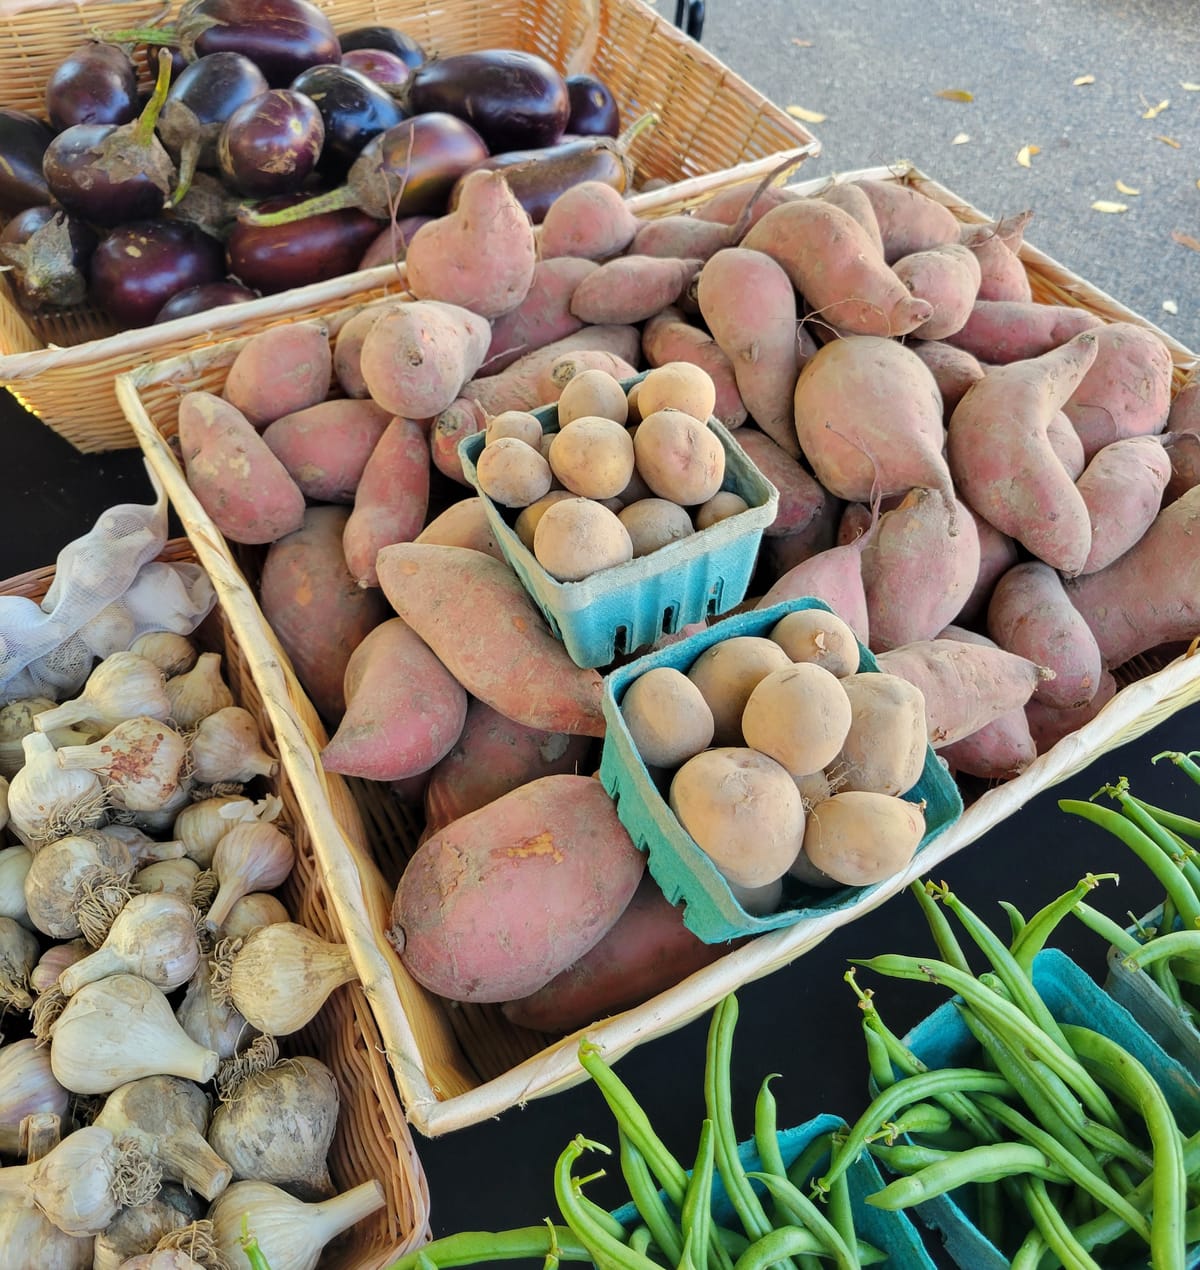
[[[792,1129],[781,1129],[778,1133],[780,1154],[783,1166],[789,1170],[790,1180],[800,1190],[808,1193],[806,1182],[809,1177],[819,1176],[829,1160],[829,1153],[815,1152],[809,1156],[811,1167],[805,1167],[805,1177],[791,1176],[795,1166],[801,1161],[810,1146],[815,1146],[818,1139],[846,1129],[846,1121],[836,1115],[819,1115],[805,1124]],[[758,1149],[753,1139],[738,1144],[738,1158],[747,1171],[756,1171],[761,1167]],[[883,1190],[884,1180],[879,1173],[875,1161],[867,1156],[860,1156],[850,1166],[847,1173],[850,1184],[850,1204],[853,1214],[855,1233],[860,1243],[867,1243],[872,1248],[886,1253],[886,1260],[879,1262],[886,1270],[935,1270],[937,1262],[926,1251],[921,1241],[921,1233],[905,1213],[888,1213],[880,1208],[871,1208],[866,1203],[867,1195],[874,1195]],[[754,1189],[766,1195],[762,1182],[754,1182]],[[665,1196],[664,1196],[665,1199]],[[767,1200],[770,1203],[770,1200]],[[617,1209],[612,1214],[626,1229],[632,1229],[640,1217],[637,1208],[630,1203]],[[734,1214],[733,1204],[725,1194],[720,1177],[712,1182],[712,1219],[721,1226],[739,1228],[738,1218]],[[822,1262],[833,1264],[833,1262]]]

